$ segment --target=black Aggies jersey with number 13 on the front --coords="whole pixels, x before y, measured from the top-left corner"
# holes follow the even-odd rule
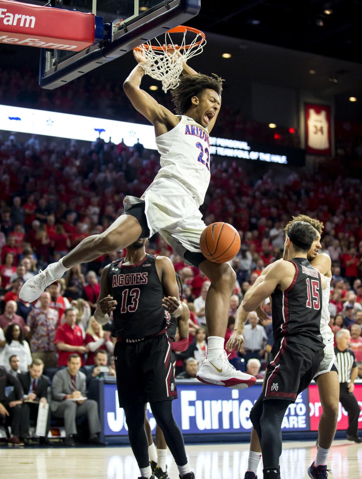
[[[155,255],[146,254],[137,264],[112,262],[107,273],[110,294],[117,301],[113,311],[113,335],[143,339],[166,327],[162,307],[164,289],[157,274]]]

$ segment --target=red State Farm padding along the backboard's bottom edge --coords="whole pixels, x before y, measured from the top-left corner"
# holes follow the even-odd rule
[[[94,43],[94,15],[0,0],[0,42],[80,51]]]

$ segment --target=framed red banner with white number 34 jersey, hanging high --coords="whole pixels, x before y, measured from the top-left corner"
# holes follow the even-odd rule
[[[330,108],[328,105],[305,105],[306,152],[330,155]]]

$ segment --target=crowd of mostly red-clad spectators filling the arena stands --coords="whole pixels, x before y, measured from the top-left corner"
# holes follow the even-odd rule
[[[26,439],[16,421],[21,414],[31,417],[30,406],[22,411],[23,399],[37,394],[30,383],[33,387],[43,367],[52,375],[56,371],[51,389],[53,416],[73,418],[66,422],[68,445],[74,445],[75,405],[86,404],[82,406],[86,416],[94,413],[94,404],[87,403],[91,399],[79,398],[85,397],[85,388],[93,378],[115,376],[112,321],[102,328],[92,316],[99,296],[99,276],[105,265],[124,252],[113,251],[73,267],[34,304],[19,299],[24,281],[88,235],[108,228],[123,212],[124,196],[141,196],[158,168],[158,157],[144,150],[140,142],[129,148],[101,139],[91,145],[53,138],[43,141],[36,136],[24,143],[14,135],[3,134],[0,139],[0,373],[6,371],[8,382],[12,381],[10,376],[26,376],[25,386],[14,387],[12,400],[2,395],[0,377],[1,407],[8,407],[15,421],[14,444]],[[205,222],[231,223],[241,237],[240,252],[231,261],[237,282],[230,300],[226,342],[245,291],[266,265],[281,258],[285,224],[292,215],[304,213],[325,225],[321,252],[331,257],[333,275],[330,326],[335,333],[342,327],[351,330],[351,348],[357,361],[362,360],[361,191],[361,181],[356,179],[331,180],[290,169],[283,176],[279,169],[271,169],[254,180],[238,161],[212,164],[210,187],[202,205]],[[190,336],[186,352],[178,353],[176,375],[180,379],[195,377],[207,353],[208,278],[183,262],[158,235],[149,240],[147,251],[170,257],[181,278],[190,310]],[[271,305],[264,308],[271,316]],[[271,320],[260,324],[257,315],[250,313],[244,339],[240,352],[228,352],[229,360],[261,378],[273,344]],[[73,378],[67,387],[62,373],[66,369]],[[61,397],[69,401],[63,404]],[[95,443],[98,427],[97,421],[92,422]]]

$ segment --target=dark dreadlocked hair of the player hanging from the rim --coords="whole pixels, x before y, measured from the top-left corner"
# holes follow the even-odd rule
[[[183,115],[191,106],[191,98],[198,96],[203,90],[207,88],[215,90],[218,95],[222,92],[222,78],[211,74],[211,77],[207,75],[183,75],[179,78],[180,84],[175,90],[171,91],[172,101],[175,105],[175,112],[178,115]]]

